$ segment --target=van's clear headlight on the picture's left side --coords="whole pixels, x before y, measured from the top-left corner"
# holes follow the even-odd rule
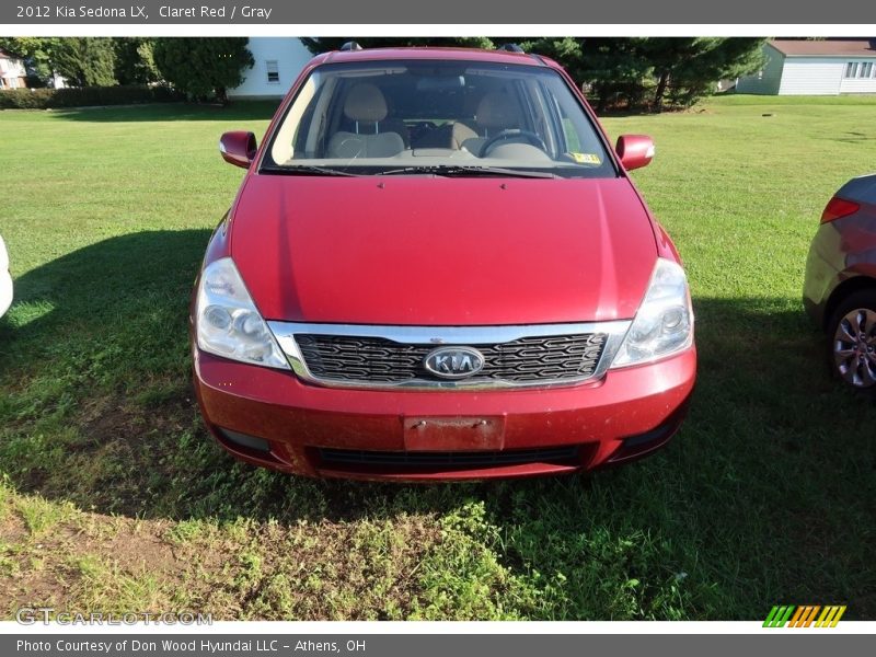
[[[230,257],[204,269],[195,312],[201,350],[251,365],[289,369]]]

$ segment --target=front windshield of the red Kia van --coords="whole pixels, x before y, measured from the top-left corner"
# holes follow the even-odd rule
[[[275,130],[262,171],[616,175],[596,127],[555,70],[436,60],[316,67]]]

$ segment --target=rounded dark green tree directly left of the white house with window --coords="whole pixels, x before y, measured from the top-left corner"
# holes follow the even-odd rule
[[[255,64],[245,37],[166,37],[152,45],[161,77],[195,101],[228,102],[228,90],[243,82]]]

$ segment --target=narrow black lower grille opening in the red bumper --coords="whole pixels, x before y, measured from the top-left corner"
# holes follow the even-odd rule
[[[320,448],[316,450],[322,465],[434,469],[498,468],[544,463],[550,465],[579,465],[580,448],[543,447],[484,452],[419,452],[367,451],[360,449]]]

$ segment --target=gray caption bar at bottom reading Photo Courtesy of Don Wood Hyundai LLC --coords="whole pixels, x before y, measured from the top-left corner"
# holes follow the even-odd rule
[[[848,623],[844,623],[848,624]],[[532,655],[739,655],[795,657],[868,655],[873,635],[830,630],[764,630],[757,634],[260,634],[0,636],[0,653],[15,657],[531,657]]]

